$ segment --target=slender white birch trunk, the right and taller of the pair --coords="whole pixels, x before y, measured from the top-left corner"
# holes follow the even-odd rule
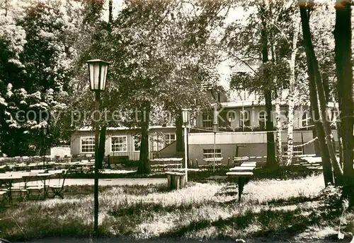
[[[300,23],[299,18],[295,23],[294,36],[292,37],[292,52],[290,57],[290,82],[289,82],[289,107],[287,121],[287,162],[286,165],[292,164],[293,153],[293,130],[294,130],[294,94],[295,94],[295,61],[297,52],[297,37],[299,36]]]

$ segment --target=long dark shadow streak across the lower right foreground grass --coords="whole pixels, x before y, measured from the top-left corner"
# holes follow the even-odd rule
[[[335,218],[337,215],[326,215],[326,213],[319,213],[318,210],[324,208],[318,208],[316,211],[308,214],[304,214],[301,208],[297,208],[293,211],[272,211],[262,210],[259,213],[253,213],[247,211],[245,215],[239,217],[232,217],[228,219],[220,219],[216,221],[198,221],[192,222],[189,225],[178,228],[176,230],[166,232],[161,237],[183,237],[188,232],[196,232],[198,230],[204,230],[207,227],[216,227],[218,239],[229,239],[230,237],[282,237],[294,236],[303,232],[310,225],[321,223],[326,217],[326,220]],[[261,225],[257,232],[247,232],[247,227],[257,223]],[[230,236],[227,232],[229,228],[236,229],[239,232],[243,232],[243,235]]]

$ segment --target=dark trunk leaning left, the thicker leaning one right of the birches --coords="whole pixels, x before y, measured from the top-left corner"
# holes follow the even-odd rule
[[[324,168],[324,184],[325,186],[328,186],[329,184],[333,184],[333,173],[331,160],[329,158],[329,148],[326,145],[326,135],[324,133],[324,127],[319,117],[318,97],[315,80],[316,76],[314,70],[314,63],[312,61],[312,59],[314,59],[314,47],[312,45],[312,37],[309,28],[309,14],[307,13],[306,6],[300,4],[299,8],[302,23],[302,35],[304,38],[304,47],[307,57],[307,72],[309,74],[309,93],[313,112],[312,115],[314,117],[314,125],[316,126],[316,134],[319,138],[319,146],[321,149],[322,165]]]

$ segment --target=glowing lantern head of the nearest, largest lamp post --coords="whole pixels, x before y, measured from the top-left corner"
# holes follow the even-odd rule
[[[105,79],[109,63],[101,59],[93,59],[86,61],[89,67],[90,88],[93,91],[105,90]]]

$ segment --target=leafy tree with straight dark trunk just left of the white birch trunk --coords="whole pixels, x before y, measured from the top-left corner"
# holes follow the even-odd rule
[[[234,34],[229,37],[229,47],[232,49],[241,49],[242,53],[235,52],[230,54],[230,57],[241,60],[246,63],[251,59],[258,59],[261,54],[262,69],[257,71],[253,70],[258,78],[253,78],[253,82],[249,83],[249,78],[241,78],[243,81],[238,81],[238,75],[235,73],[232,77],[231,85],[233,88],[247,88],[249,91],[258,90],[262,91],[265,99],[265,108],[267,113],[267,166],[275,167],[282,161],[282,141],[281,131],[282,122],[280,119],[280,99],[282,86],[287,82],[287,64],[284,63],[288,57],[289,45],[288,36],[292,36],[292,20],[295,10],[293,2],[284,3],[278,1],[262,1],[254,3],[252,1],[245,1],[243,4],[253,6],[249,16],[244,19],[244,24],[234,24],[230,26],[226,34],[229,37],[231,30],[235,30]],[[250,7],[245,7],[246,10]],[[239,28],[239,30],[237,30]],[[237,41],[236,41],[237,40]],[[240,47],[241,46],[241,47]],[[258,57],[256,53],[258,52]],[[271,60],[269,59],[271,57]],[[278,58],[277,58],[278,57]],[[268,64],[271,61],[274,64]],[[271,70],[271,71],[270,71]],[[260,74],[263,73],[262,78]],[[280,78],[281,77],[281,78]],[[262,80],[261,80],[262,79]],[[265,80],[267,82],[265,82]],[[244,82],[246,81],[246,83]],[[248,83],[247,83],[248,82]],[[236,85],[242,83],[242,85]],[[275,99],[275,119],[276,119],[276,143],[273,135],[273,119],[270,119],[272,110],[272,100]],[[275,146],[277,159],[275,160]]]

